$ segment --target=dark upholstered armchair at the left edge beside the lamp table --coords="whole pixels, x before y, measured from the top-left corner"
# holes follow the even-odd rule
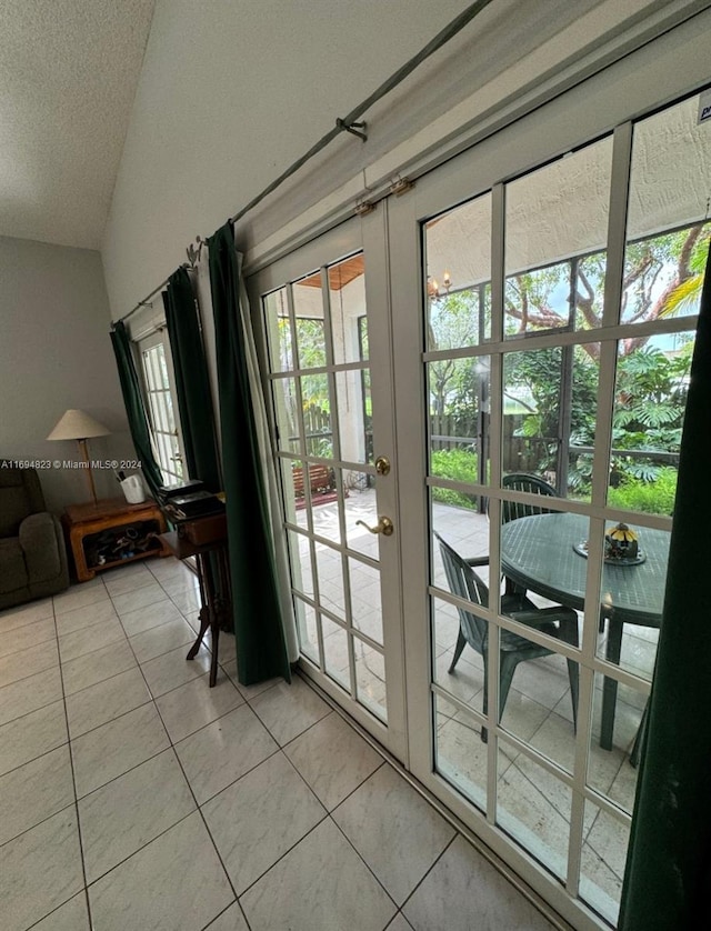
[[[0,461],[0,609],[67,588],[64,535],[36,470]]]

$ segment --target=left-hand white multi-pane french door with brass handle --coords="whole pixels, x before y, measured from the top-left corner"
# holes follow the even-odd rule
[[[253,276],[301,662],[405,760],[392,348],[382,211]]]

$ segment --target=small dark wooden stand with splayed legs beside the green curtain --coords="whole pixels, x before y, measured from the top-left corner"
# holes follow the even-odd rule
[[[200,534],[198,539],[204,540],[200,544],[193,543],[188,535],[188,524],[193,527],[203,521],[203,527],[209,527],[214,533],[208,540],[204,540],[206,534]],[[232,623],[232,603],[230,598],[230,570],[228,564],[228,549],[227,549],[227,523],[220,523],[220,529],[217,529],[216,523],[211,522],[211,518],[197,518],[193,521],[187,521],[179,524],[179,530],[171,530],[168,533],[161,534],[162,542],[170,549],[170,551],[178,559],[196,558],[198,565],[198,579],[200,581],[200,600],[202,607],[200,608],[200,631],[198,639],[190,648],[186,659],[193,660],[198,655],[198,650],[202,643],[202,638],[210,629],[212,657],[210,660],[210,688],[214,685],[218,678],[218,645],[220,642],[220,628],[223,625],[231,627]],[[210,557],[214,555],[211,563]],[[214,571],[213,571],[214,570]]]

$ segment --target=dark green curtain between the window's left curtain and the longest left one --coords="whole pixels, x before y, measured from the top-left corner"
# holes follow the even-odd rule
[[[170,276],[163,291],[166,324],[176,373],[176,393],[186,451],[186,478],[221,491],[212,394],[204,358],[198,301],[184,268]]]

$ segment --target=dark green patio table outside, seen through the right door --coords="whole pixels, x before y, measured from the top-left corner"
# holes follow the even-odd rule
[[[573,547],[588,539],[590,522],[581,514],[534,514],[501,528],[504,574],[537,594],[582,611],[588,560]],[[630,525],[632,527],[632,525]],[[659,628],[664,601],[670,533],[632,527],[644,562],[603,564],[601,615],[608,620],[605,659],[619,665],[624,624]],[[612,749],[618,682],[605,675],[600,747]]]

